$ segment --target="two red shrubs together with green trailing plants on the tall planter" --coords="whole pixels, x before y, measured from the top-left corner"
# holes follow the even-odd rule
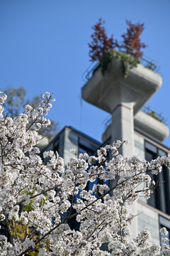
[[[111,63],[113,57],[122,60],[123,78],[128,77],[130,68],[136,67],[140,63],[139,58],[142,57],[141,48],[145,48],[145,44],[140,42],[140,35],[144,30],[144,23],[133,24],[126,21],[128,25],[127,33],[123,34],[123,45],[119,45],[118,41],[113,40],[113,35],[108,38],[106,30],[102,24],[104,21],[99,19],[92,28],[94,33],[91,35],[93,39],[89,43],[89,56],[91,61],[98,60],[101,72],[104,75]],[[116,50],[115,50],[116,49]]]

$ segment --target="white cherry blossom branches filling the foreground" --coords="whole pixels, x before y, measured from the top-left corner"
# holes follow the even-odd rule
[[[162,164],[169,167],[169,156],[151,162],[123,157],[118,149],[125,142],[118,141],[98,149],[96,156],[72,150],[67,166],[57,152],[47,151],[44,164],[36,144],[42,139],[38,130],[50,124],[52,95],[45,93],[37,109],[26,105],[13,119],[3,112],[5,100],[1,93],[0,219],[6,225],[1,256],[170,255],[166,242],[162,252],[159,245],[149,245],[146,229],[130,239],[135,215],[129,207],[140,193],[149,198],[154,187],[149,173],[158,174]],[[86,191],[89,181],[94,186]],[[73,218],[77,229],[69,226]]]

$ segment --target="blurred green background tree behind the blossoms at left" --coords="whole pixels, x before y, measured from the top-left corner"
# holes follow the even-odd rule
[[[4,93],[8,95],[6,102],[4,102],[4,110],[9,117],[18,117],[19,114],[23,111],[25,105],[30,105],[35,108],[40,104],[41,97],[35,96],[32,100],[26,99],[26,89],[22,86],[18,88],[8,87],[4,90]],[[54,120],[50,120],[51,124],[48,127],[42,127],[39,133],[52,139],[57,132],[58,123]]]

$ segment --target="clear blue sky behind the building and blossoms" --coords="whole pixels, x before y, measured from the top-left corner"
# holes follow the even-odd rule
[[[170,126],[169,0],[1,0],[0,87],[22,85],[28,97],[54,92],[50,118],[101,141],[106,112],[81,101],[91,26],[103,18],[108,36],[121,40],[125,19],[145,23],[144,54],[159,63],[162,88],[147,105]],[[164,142],[170,146],[170,138]]]

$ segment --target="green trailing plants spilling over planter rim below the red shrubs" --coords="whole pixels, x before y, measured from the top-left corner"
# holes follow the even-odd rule
[[[108,68],[108,64],[111,63],[112,58],[115,57],[118,60],[122,60],[123,63],[123,78],[127,78],[130,68],[136,67],[140,61],[137,58],[133,58],[127,53],[122,53],[118,50],[108,50],[100,60],[101,73],[104,75]]]

